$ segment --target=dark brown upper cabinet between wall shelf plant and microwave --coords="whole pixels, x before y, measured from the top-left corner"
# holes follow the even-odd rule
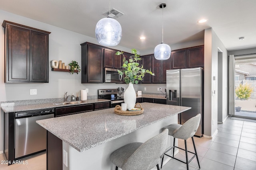
[[[103,83],[103,55],[104,49],[92,43],[81,44],[81,82]]]

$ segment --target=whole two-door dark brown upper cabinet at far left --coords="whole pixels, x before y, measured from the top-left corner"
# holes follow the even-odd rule
[[[4,82],[48,83],[48,31],[5,21]]]

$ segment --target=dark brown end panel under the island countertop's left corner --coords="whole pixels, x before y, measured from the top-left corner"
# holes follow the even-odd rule
[[[62,140],[47,131],[47,170],[62,170]]]

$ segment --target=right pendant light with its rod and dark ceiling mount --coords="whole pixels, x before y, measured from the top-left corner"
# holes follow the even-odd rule
[[[164,8],[166,4],[160,4],[160,8],[162,8],[162,43],[157,45],[154,49],[154,57],[157,60],[167,60],[171,55],[171,47],[167,44],[164,44]]]

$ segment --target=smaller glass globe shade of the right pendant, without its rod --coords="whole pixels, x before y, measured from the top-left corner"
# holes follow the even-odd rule
[[[167,44],[161,43],[154,49],[154,57],[157,60],[167,60],[171,55],[171,47]]]

